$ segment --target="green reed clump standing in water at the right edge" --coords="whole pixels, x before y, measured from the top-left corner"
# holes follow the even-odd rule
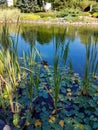
[[[89,88],[92,87],[92,83],[94,83],[94,77],[96,76],[96,72],[98,70],[98,50],[96,43],[87,44],[86,45],[86,61],[84,68],[84,77],[83,77],[83,95],[89,94]]]

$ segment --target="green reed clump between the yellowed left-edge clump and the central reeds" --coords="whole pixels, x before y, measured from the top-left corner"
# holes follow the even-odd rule
[[[38,52],[38,50],[35,48],[35,46],[31,47],[30,52],[28,53],[23,53],[23,67],[21,67],[23,70],[26,70],[26,81],[25,85],[26,87],[26,93],[30,99],[30,110],[31,112],[33,111],[33,101],[38,97],[38,90],[39,90],[39,71],[38,68],[36,68],[36,58],[37,56],[41,56]],[[36,94],[35,94],[36,91]],[[36,95],[36,96],[35,96]]]

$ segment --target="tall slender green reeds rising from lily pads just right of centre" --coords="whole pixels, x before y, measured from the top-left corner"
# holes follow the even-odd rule
[[[60,30],[59,30],[60,32]],[[60,75],[60,70],[59,70],[59,62],[61,59],[63,59],[64,65],[66,65],[66,62],[68,61],[68,54],[69,54],[69,43],[64,42],[66,36],[66,29],[64,31],[64,35],[62,36],[61,39],[59,39],[59,33],[58,36],[56,37],[55,42],[55,53],[54,53],[54,104],[55,104],[55,109],[57,109],[57,102],[59,100],[59,92],[61,88],[61,75]],[[72,64],[71,64],[72,65]],[[72,66],[71,66],[72,69]]]

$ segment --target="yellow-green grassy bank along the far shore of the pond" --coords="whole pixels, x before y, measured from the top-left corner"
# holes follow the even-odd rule
[[[92,16],[97,17],[97,13],[92,14]],[[20,22],[83,22],[83,23],[97,23],[98,18],[91,17],[89,12],[80,12],[76,10],[63,10],[60,12],[40,12],[40,13],[21,13],[18,9],[3,9],[0,10],[0,21],[3,22],[5,19],[8,22],[15,22],[17,19]]]

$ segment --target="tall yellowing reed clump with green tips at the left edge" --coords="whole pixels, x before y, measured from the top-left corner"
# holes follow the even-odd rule
[[[18,112],[18,102],[13,100],[16,95],[17,86],[21,80],[20,65],[18,62],[17,52],[14,48],[13,40],[9,35],[7,21],[5,21],[2,28],[1,35],[2,46],[6,44],[4,48],[0,49],[0,63],[2,72],[0,73],[1,81],[4,82],[4,88],[7,91],[11,111],[13,113]],[[6,51],[5,51],[6,50]],[[15,94],[14,94],[15,92]],[[17,107],[17,108],[16,108]]]

